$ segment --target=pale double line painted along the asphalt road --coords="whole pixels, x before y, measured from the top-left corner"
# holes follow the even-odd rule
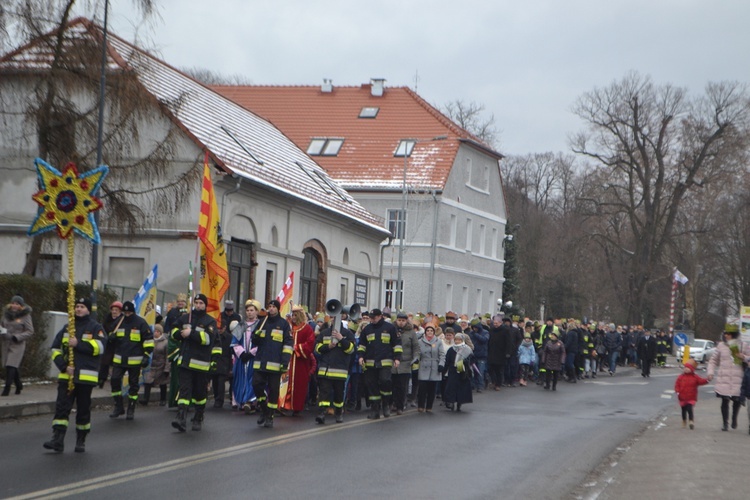
[[[416,413],[414,413],[416,415]],[[404,415],[408,416],[408,415]],[[383,419],[388,420],[388,419]],[[199,453],[189,457],[178,458],[170,460],[162,464],[148,465],[145,467],[138,467],[122,472],[115,472],[106,476],[98,478],[87,479],[85,481],[77,481],[74,483],[65,484],[62,486],[55,486],[54,488],[48,488],[46,490],[33,491],[24,495],[18,495],[10,497],[8,500],[26,500],[30,498],[65,498],[80,493],[86,493],[88,491],[99,490],[102,488],[108,488],[117,484],[125,483],[128,481],[134,481],[136,479],[143,479],[146,477],[156,476],[158,474],[164,474],[165,472],[172,472],[174,470],[185,469],[194,465],[221,460],[224,458],[233,457],[235,455],[242,455],[251,451],[262,450],[270,448],[272,446],[293,443],[302,439],[310,437],[320,436],[328,434],[329,432],[335,432],[341,429],[350,429],[353,427],[359,427],[365,424],[374,424],[382,422],[383,420],[356,420],[354,422],[347,422],[344,424],[334,424],[326,427],[317,427],[314,429],[308,429],[305,431],[293,432],[291,434],[285,434],[283,436],[275,436],[260,441],[254,441],[252,443],[241,444],[237,446],[230,446],[220,450],[210,451],[206,453]]]

